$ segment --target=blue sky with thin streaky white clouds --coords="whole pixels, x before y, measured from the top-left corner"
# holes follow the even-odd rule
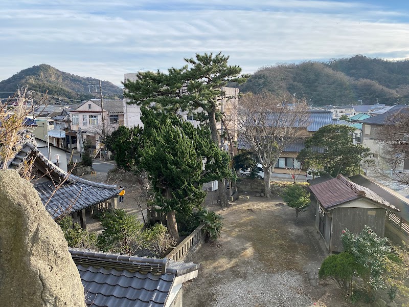
[[[244,73],[362,54],[409,58],[409,2],[2,0],[0,80],[47,63],[121,85],[221,51]]]

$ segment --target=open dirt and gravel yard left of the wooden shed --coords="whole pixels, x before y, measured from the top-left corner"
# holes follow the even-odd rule
[[[314,208],[300,213],[280,199],[251,196],[218,210],[223,215],[220,247],[203,245],[192,261],[199,275],[184,290],[184,305],[347,306],[332,284],[312,287],[308,275],[328,253],[314,228]]]

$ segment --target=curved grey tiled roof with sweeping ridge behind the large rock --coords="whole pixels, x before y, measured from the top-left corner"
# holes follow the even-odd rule
[[[63,213],[76,212],[97,205],[115,197],[120,192],[116,185],[96,183],[72,174],[69,175],[48,160],[31,142],[26,142],[22,146],[17,155],[9,161],[8,168],[18,171],[31,157],[34,158],[34,166],[47,173],[47,176],[51,177],[55,183],[47,181],[34,184],[41,202],[44,205],[47,204],[46,210],[53,218]],[[63,180],[65,183],[53,194],[55,185]]]

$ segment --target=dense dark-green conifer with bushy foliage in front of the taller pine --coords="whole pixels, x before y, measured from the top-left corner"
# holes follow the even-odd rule
[[[167,213],[169,233],[178,240],[175,213],[190,214],[206,196],[203,183],[229,176],[229,155],[212,142],[208,128],[147,108],[141,119],[141,165],[151,177],[155,205]]]

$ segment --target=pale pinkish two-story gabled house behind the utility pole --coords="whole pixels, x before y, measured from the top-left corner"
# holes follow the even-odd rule
[[[108,135],[124,124],[123,105],[122,99],[104,99],[101,108],[100,99],[90,99],[70,112],[71,129],[76,131],[79,152],[82,152],[85,141],[88,141],[93,149],[101,149],[103,132]]]

